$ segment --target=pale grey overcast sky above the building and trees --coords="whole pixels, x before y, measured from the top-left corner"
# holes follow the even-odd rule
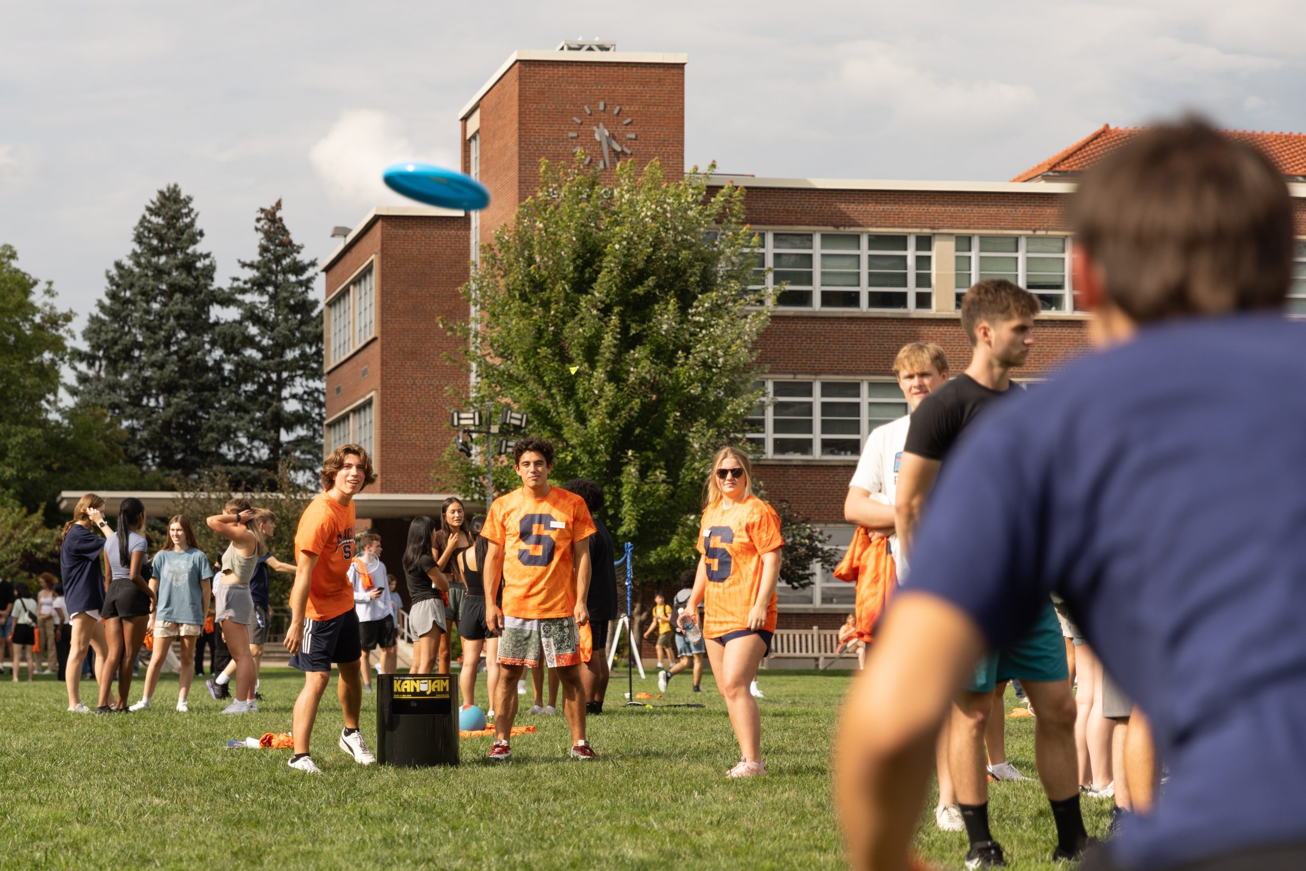
[[[0,33],[0,243],[77,312],[170,182],[221,279],[278,197],[321,257],[398,201],[387,163],[457,166],[462,104],[564,38],[688,54],[686,161],[730,172],[1006,180],[1185,108],[1306,131],[1290,0],[24,3]]]

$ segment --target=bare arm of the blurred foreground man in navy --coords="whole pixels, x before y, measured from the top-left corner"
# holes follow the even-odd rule
[[[848,693],[835,747],[835,806],[852,867],[908,867],[935,735],[982,652],[980,628],[949,602],[912,592],[893,602]]]

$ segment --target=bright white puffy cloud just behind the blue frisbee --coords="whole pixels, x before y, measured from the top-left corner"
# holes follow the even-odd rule
[[[457,166],[444,150],[415,148],[400,119],[376,110],[341,112],[326,136],[308,149],[308,161],[332,200],[363,205],[407,202],[381,182],[381,171],[390,163]]]

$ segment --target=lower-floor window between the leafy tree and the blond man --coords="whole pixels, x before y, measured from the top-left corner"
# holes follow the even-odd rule
[[[744,440],[763,457],[850,460],[871,430],[908,411],[896,381],[771,379],[769,405],[748,417]]]

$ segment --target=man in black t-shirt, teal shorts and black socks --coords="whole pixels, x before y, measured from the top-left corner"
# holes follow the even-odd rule
[[[1033,345],[1037,312],[1038,300],[1029,291],[1003,279],[982,281],[961,300],[961,325],[974,349],[970,366],[921,400],[902,451],[896,515],[899,541],[908,558],[906,586],[912,584],[912,542],[939,467],[970,424],[1011,389],[1011,370],[1024,364]],[[951,730],[948,761],[970,838],[968,867],[1004,864],[1002,847],[989,831],[987,774],[1000,778],[1006,769],[985,770],[983,734],[994,709],[995,687],[1012,678],[1020,680],[1038,712],[1036,764],[1057,823],[1054,858],[1074,858],[1083,851],[1088,836],[1079,807],[1075,699],[1068,676],[1060,626],[1049,599],[1046,614],[1029,635],[987,653],[957,697],[944,727]]]

